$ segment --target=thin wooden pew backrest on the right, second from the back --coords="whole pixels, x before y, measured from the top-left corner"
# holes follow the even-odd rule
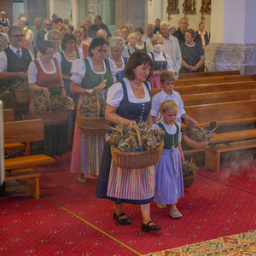
[[[195,79],[177,79],[175,80],[176,86],[187,86],[193,84],[216,84],[227,83],[236,81],[252,81],[256,80],[256,75],[241,75],[241,76],[222,76],[212,78],[195,78]]]

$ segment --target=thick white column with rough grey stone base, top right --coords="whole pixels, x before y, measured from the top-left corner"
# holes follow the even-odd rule
[[[206,48],[209,71],[256,73],[256,2],[212,1],[211,38]]]

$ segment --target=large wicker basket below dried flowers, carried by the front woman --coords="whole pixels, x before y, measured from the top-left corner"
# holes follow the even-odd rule
[[[142,152],[122,152],[118,148],[111,146],[111,155],[114,163],[120,168],[140,169],[148,166],[154,166],[160,161],[163,152],[164,143],[154,151]]]

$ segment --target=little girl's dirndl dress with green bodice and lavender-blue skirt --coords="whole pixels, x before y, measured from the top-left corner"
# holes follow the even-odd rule
[[[154,201],[159,204],[176,204],[177,199],[184,196],[183,170],[178,149],[179,127],[174,122],[177,131],[169,134],[164,124],[160,122],[157,125],[165,131],[166,137],[163,153],[154,171]]]

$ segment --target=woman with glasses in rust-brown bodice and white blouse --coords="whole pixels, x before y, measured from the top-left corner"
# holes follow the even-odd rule
[[[30,63],[28,67],[28,82],[32,90],[32,101],[37,96],[66,96],[61,76],[61,65],[53,58],[54,46],[49,41],[38,45],[40,58]],[[29,109],[32,119],[32,109]],[[44,141],[32,143],[33,154],[53,156],[67,152],[67,122],[61,125],[44,126]]]

